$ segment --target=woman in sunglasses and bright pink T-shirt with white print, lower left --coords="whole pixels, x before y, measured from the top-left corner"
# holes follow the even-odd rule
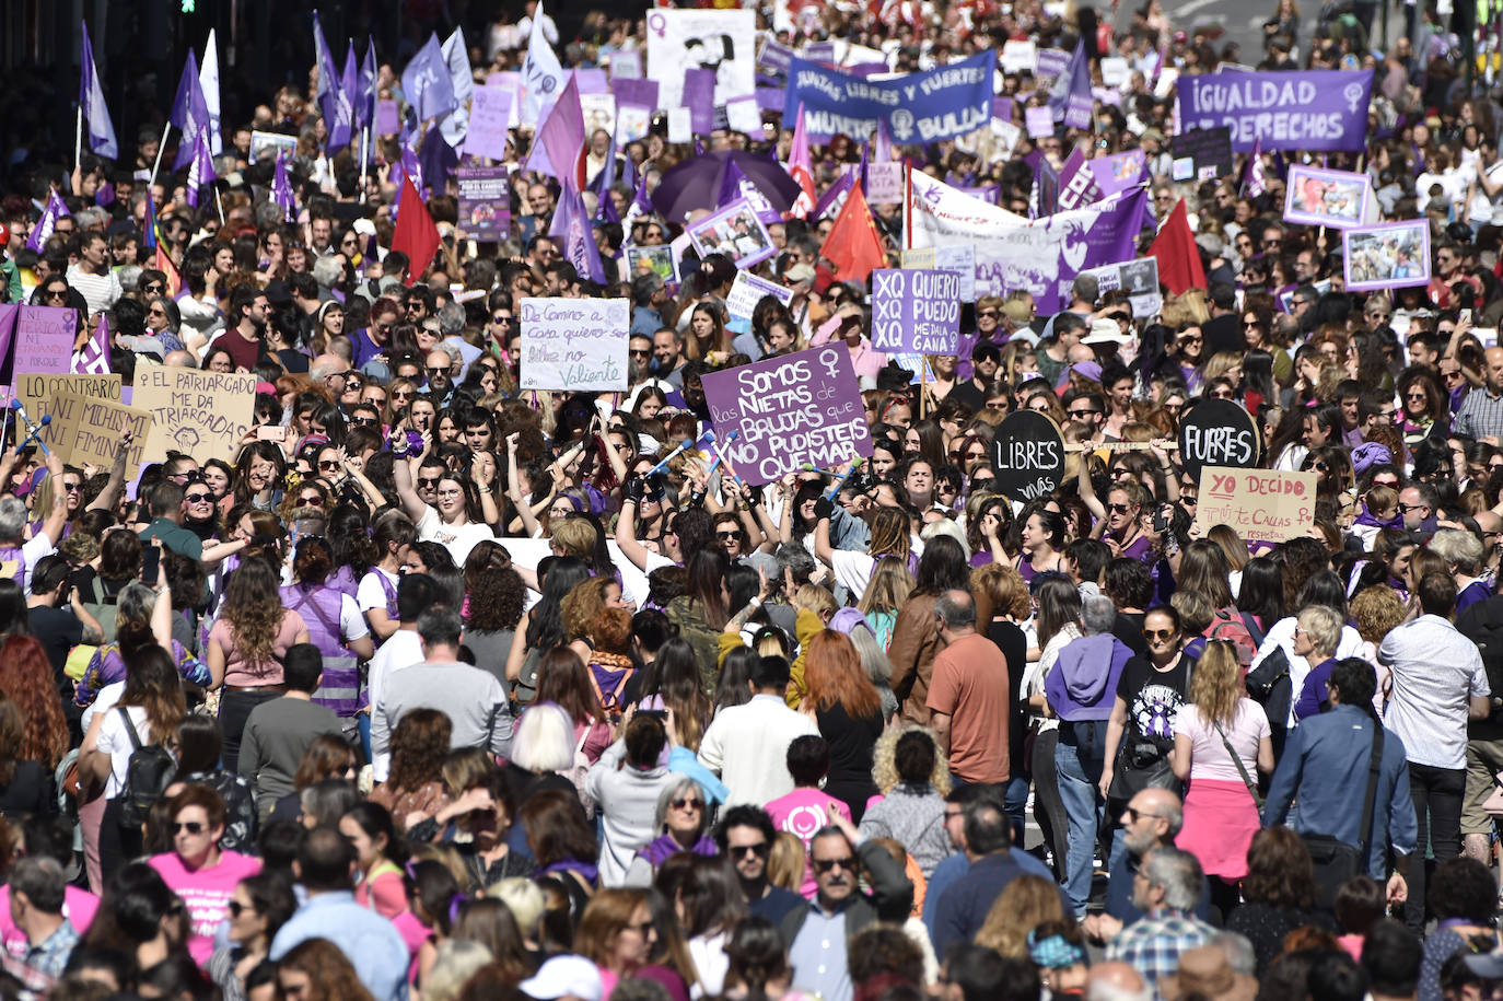
[[[230,914],[234,887],[262,870],[262,860],[219,846],[224,837],[224,800],[198,783],[168,803],[173,851],[152,855],[150,866],[177,896],[192,900],[188,953],[200,966],[213,953],[219,921]]]

